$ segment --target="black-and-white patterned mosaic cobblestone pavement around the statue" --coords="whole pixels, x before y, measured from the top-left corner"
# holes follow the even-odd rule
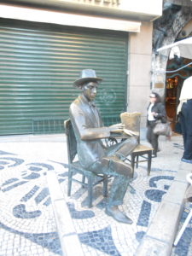
[[[47,181],[47,173],[51,172],[56,174],[63,198],[67,200],[83,255],[133,256],[139,253],[138,250],[144,252],[142,247],[146,248],[146,237],[152,229],[160,202],[172,190],[170,187],[175,177],[178,178],[179,169],[190,168],[189,164],[181,165],[182,137],[172,137],[172,141],[162,137],[160,148],[158,157],[152,161],[149,177],[146,163],[136,169],[137,178],[131,183],[133,189],[127,191],[125,203],[121,207],[133,220],[133,224],[126,225],[117,223],[105,214],[106,201],[101,196],[100,186],[95,189],[92,208],[86,207],[87,194],[79,184],[73,184],[72,197],[67,197],[65,135],[1,137],[0,256],[61,255],[63,245],[56,224],[55,204],[50,200],[50,190],[53,190],[55,183],[49,183],[48,187]],[[176,189],[176,197],[179,193]],[[177,202],[176,205],[179,205],[179,211],[182,212],[183,206]],[[61,218],[68,218],[65,207],[59,210]],[[187,217],[186,212],[183,212],[182,222]],[[167,218],[170,216],[167,215]],[[66,234],[70,231],[67,230],[70,228],[69,221],[66,219],[64,223]],[[163,230],[157,227],[155,232],[160,234]],[[191,256],[191,240],[190,222],[187,232],[173,249],[172,256]]]

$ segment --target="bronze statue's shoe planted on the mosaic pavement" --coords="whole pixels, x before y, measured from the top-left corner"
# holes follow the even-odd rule
[[[118,207],[106,207],[106,214],[113,217],[115,220],[125,224],[132,224],[131,218],[128,218],[125,213],[120,212]]]

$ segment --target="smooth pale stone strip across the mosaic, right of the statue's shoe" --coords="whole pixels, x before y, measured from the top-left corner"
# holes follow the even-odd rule
[[[143,241],[137,247],[137,256],[169,256],[177,234],[181,213],[183,212],[184,195],[189,183],[186,175],[192,172],[192,166],[181,162],[177,175],[154,215]]]

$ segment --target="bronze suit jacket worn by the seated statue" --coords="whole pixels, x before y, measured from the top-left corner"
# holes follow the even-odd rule
[[[106,155],[102,138],[109,137],[110,131],[102,125],[98,109],[84,95],[71,104],[69,116],[78,143],[79,162],[87,168]]]

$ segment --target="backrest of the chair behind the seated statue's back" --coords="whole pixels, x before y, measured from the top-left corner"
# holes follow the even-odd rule
[[[77,154],[77,141],[74,135],[72,122],[70,119],[64,121],[64,127],[67,137],[67,154],[68,154],[68,163],[73,163],[73,160]]]

